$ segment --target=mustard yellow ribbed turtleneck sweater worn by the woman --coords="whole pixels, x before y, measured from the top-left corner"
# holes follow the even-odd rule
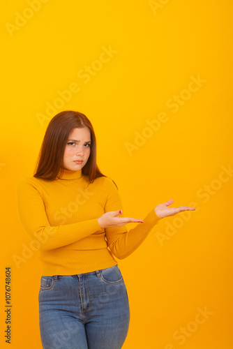
[[[127,230],[126,225],[101,229],[98,218],[122,209],[110,177],[89,184],[82,170],[64,170],[61,179],[27,177],[17,186],[17,210],[33,246],[40,250],[44,276],[74,275],[117,265],[142,244],[161,219],[154,209]],[[121,215],[123,216],[123,214]]]

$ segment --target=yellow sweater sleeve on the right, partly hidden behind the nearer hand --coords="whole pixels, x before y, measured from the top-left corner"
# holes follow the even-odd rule
[[[107,202],[105,212],[123,209],[119,191],[112,179],[106,179],[105,188],[107,190]],[[121,217],[124,215],[121,214]],[[152,209],[143,219],[143,223],[138,223],[135,228],[129,231],[126,225],[121,227],[105,228],[107,244],[110,251],[119,259],[128,257],[137,247],[144,242],[151,229],[160,221],[155,209]]]

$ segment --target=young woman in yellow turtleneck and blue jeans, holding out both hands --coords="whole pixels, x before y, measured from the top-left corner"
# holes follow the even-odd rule
[[[44,349],[120,349],[128,295],[116,258],[142,244],[158,221],[194,207],[157,205],[142,221],[123,217],[117,185],[96,164],[87,117],[57,114],[47,126],[36,172],[17,187],[24,229],[40,250],[38,295]],[[126,223],[137,222],[126,229]]]

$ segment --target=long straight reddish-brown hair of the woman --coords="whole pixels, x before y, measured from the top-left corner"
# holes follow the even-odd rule
[[[96,164],[96,135],[91,121],[81,112],[66,110],[59,112],[47,126],[45,137],[36,161],[33,177],[53,181],[61,178],[63,174],[63,153],[68,140],[68,135],[73,128],[87,126],[91,133],[91,154],[82,168],[82,174],[89,176],[92,183],[97,177],[106,177],[100,172]]]

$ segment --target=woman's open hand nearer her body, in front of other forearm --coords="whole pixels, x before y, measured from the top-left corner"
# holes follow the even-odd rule
[[[121,227],[121,225],[137,222],[143,223],[142,219],[130,218],[130,217],[118,217],[117,215],[122,214],[121,209],[117,211],[109,211],[98,218],[98,223],[101,229],[110,227]]]

